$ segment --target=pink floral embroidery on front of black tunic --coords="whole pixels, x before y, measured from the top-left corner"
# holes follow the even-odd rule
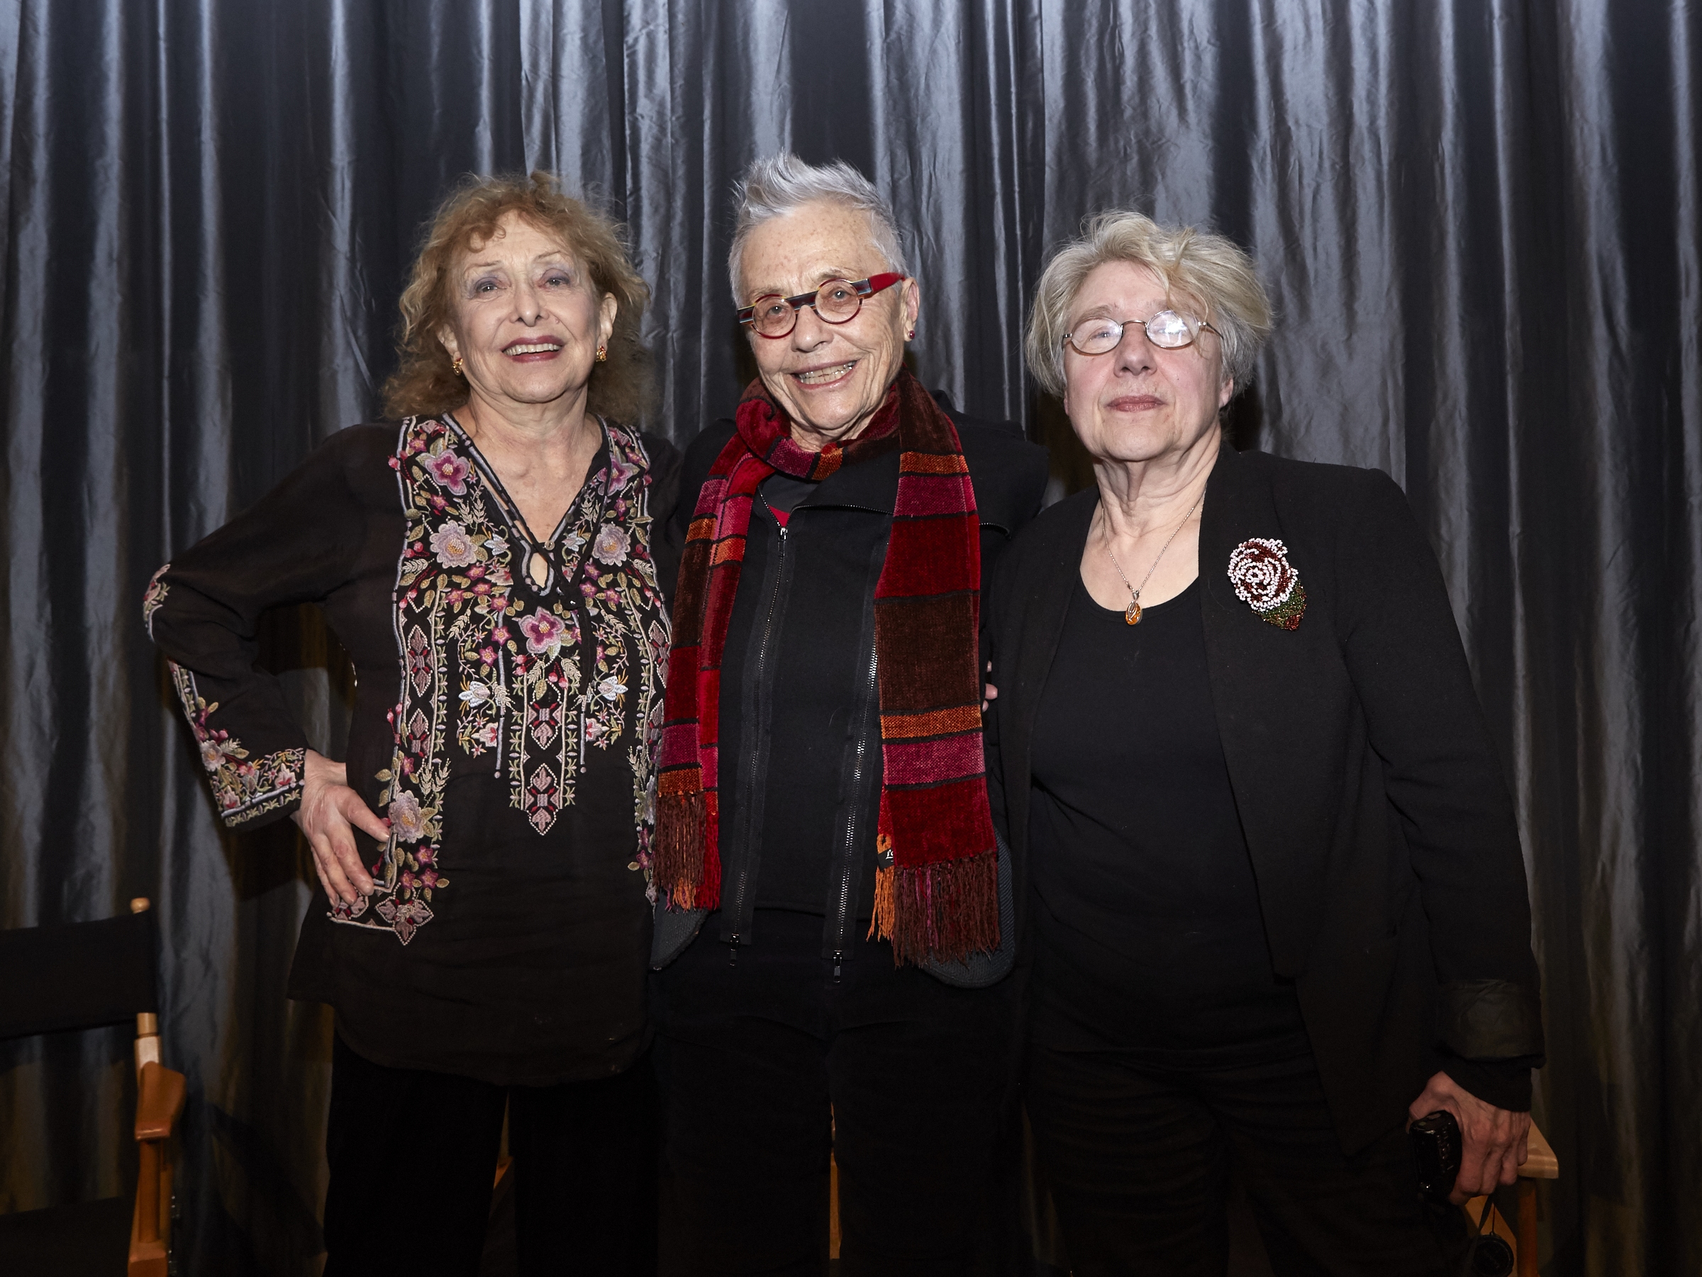
[[[393,594],[402,700],[378,795],[391,822],[373,901],[334,904],[335,921],[402,943],[443,908],[443,800],[453,766],[490,766],[509,805],[546,834],[574,804],[589,749],[623,744],[628,698],[642,739],[625,741],[638,855],[650,884],[654,746],[660,734],[667,611],[650,558],[648,467],[638,436],[604,424],[609,461],[587,475],[550,545],[524,545],[519,516],[449,422],[402,422],[397,470],[407,541]],[[511,548],[511,538],[523,541]],[[587,552],[589,547],[589,552]],[[538,552],[541,587],[519,567]],[[662,659],[659,661],[659,654]],[[477,759],[477,761],[475,761]],[[453,896],[451,896],[453,899]],[[371,914],[368,908],[371,904]]]

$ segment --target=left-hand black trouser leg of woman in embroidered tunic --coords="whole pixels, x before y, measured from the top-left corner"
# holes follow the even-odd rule
[[[390,1069],[337,1037],[325,1156],[325,1277],[471,1277],[507,1090]]]

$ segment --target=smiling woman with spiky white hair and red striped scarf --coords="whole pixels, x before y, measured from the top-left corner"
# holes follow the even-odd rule
[[[1011,1114],[979,596],[1045,456],[904,369],[921,291],[861,174],[778,155],[739,196],[757,378],[686,450],[657,759],[662,1268],[820,1274],[832,1151],[841,1272],[941,1277]]]

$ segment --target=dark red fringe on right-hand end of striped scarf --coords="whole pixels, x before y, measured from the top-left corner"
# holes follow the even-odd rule
[[[892,942],[892,962],[963,962],[999,947],[999,858],[982,851],[933,865],[875,870],[870,940]]]

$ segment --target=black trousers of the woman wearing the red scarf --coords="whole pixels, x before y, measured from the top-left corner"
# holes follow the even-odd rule
[[[820,1277],[829,1149],[842,1277],[980,1272],[1011,1226],[1013,982],[953,989],[878,943],[836,982],[819,916],[754,930],[737,965],[700,935],[652,984],[662,1272]]]

